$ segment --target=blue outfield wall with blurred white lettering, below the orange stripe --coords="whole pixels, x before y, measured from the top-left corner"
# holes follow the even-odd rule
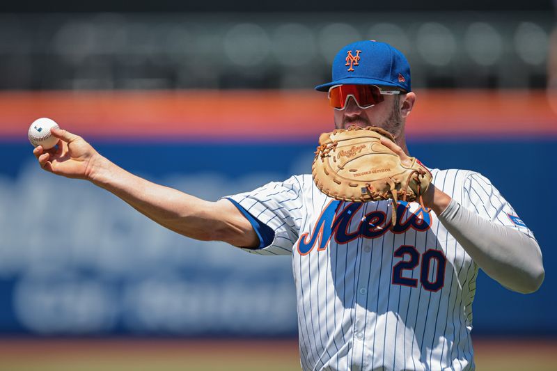
[[[308,173],[315,150],[313,143],[90,141],[133,173],[208,199]],[[27,143],[0,147],[8,154],[0,161],[0,333],[297,333],[288,257],[185,239],[91,184],[40,171]],[[427,166],[486,175],[542,246],[546,279],[534,294],[510,292],[480,273],[474,333],[557,335],[556,148],[556,139],[409,142]]]

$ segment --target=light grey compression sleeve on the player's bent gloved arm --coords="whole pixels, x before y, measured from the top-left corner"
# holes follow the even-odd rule
[[[540,247],[517,230],[492,223],[455,200],[439,220],[485,273],[510,290],[538,290],[544,279]]]

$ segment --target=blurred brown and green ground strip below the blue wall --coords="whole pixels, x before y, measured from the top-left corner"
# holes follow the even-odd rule
[[[557,340],[475,340],[477,370],[554,371]],[[300,370],[295,340],[0,340],[1,371]]]

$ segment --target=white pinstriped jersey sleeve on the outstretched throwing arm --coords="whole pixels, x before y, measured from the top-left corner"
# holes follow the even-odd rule
[[[243,248],[245,251],[262,255],[292,253],[306,213],[301,182],[303,178],[295,175],[284,182],[271,182],[251,192],[226,196],[274,231],[270,244],[260,248]]]

